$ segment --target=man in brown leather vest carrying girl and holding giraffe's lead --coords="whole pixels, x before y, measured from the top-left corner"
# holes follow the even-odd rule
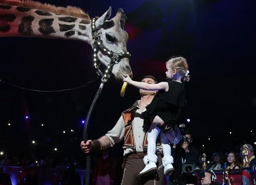
[[[145,76],[142,79],[145,83],[157,83],[153,76]],[[163,184],[163,164],[161,159],[162,147],[157,143],[157,172],[148,176],[139,177],[139,172],[145,167],[143,157],[147,151],[147,133],[142,130],[143,117],[142,112],[145,107],[151,103],[156,91],[147,91],[139,89],[141,99],[136,101],[132,108],[123,111],[114,128],[105,136],[94,141],[88,140],[86,143],[81,142],[81,148],[84,153],[88,154],[92,150],[102,150],[114,146],[115,143],[124,139],[124,160],[123,160],[123,180],[122,185],[162,185]],[[163,120],[156,116],[154,123],[164,125]],[[176,128],[170,132],[170,135],[176,139]]]

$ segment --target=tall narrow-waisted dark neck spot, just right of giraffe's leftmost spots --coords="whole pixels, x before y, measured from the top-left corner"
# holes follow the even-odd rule
[[[32,21],[34,21],[34,17],[31,15],[25,16],[22,18],[21,24],[18,26],[18,32],[22,35],[31,35],[33,34],[32,30]]]

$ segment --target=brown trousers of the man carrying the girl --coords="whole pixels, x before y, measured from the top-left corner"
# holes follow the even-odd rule
[[[157,155],[157,172],[149,176],[139,176],[144,169],[143,158],[126,158],[121,185],[163,185],[163,163],[161,155]]]

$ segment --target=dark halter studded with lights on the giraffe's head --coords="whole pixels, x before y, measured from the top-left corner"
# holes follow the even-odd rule
[[[96,25],[95,25],[96,20],[97,20],[97,18],[93,18],[93,21],[91,23],[92,36],[94,39],[93,61],[94,61],[94,67],[96,68],[96,73],[98,75],[102,76],[102,82],[106,82],[108,80],[108,78],[111,76],[110,72],[111,72],[113,65],[118,64],[121,61],[121,59],[123,59],[123,58],[126,58],[126,57],[130,58],[131,55],[129,52],[115,53],[115,52],[112,52],[111,50],[109,50],[106,46],[104,46],[102,40],[100,39],[100,37],[98,36],[98,33],[97,33],[98,30],[96,29]],[[97,52],[99,50],[102,52],[103,55],[108,56],[111,59],[110,63],[107,66],[105,74],[103,74],[102,71],[99,69],[100,63],[99,63],[99,59],[97,56]]]

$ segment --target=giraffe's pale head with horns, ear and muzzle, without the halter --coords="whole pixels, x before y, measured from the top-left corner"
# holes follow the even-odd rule
[[[126,44],[128,41],[128,34],[124,31],[124,23],[126,16],[123,14],[122,9],[118,9],[117,14],[110,20],[111,7],[99,19],[96,20],[95,26],[98,30],[98,36],[102,40],[104,46],[114,53],[127,52]],[[93,38],[91,44],[93,46]],[[101,51],[97,53],[98,59],[102,64],[107,66],[111,59],[102,54]],[[133,76],[132,69],[129,64],[128,58],[123,58],[119,63],[114,64],[112,71],[117,81],[123,81],[123,74]]]

